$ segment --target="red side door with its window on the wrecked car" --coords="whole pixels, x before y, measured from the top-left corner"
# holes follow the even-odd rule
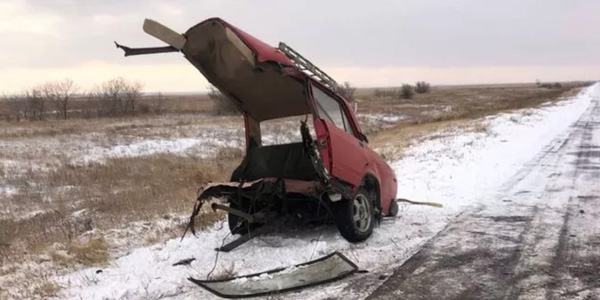
[[[356,136],[345,105],[321,87],[312,84],[311,93],[318,117],[315,130],[321,156],[329,165],[331,174],[345,182],[358,186],[367,166],[365,144]]]

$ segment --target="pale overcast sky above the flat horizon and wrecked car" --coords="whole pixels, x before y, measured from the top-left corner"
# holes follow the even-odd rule
[[[0,93],[116,76],[151,92],[204,90],[181,54],[125,58],[113,41],[162,46],[144,18],[184,32],[209,17],[360,87],[600,79],[598,0],[0,0]]]

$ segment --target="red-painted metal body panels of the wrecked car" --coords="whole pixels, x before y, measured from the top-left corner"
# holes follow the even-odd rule
[[[381,202],[382,213],[388,215],[392,202],[396,199],[396,176],[387,162],[368,147],[364,138],[361,138],[364,137],[364,134],[358,123],[358,118],[348,101],[321,84],[318,80],[299,70],[279,49],[269,46],[224,20],[218,18],[208,19],[195,27],[215,22],[231,29],[252,50],[258,62],[279,64],[283,66],[281,69],[282,73],[286,73],[296,80],[306,82],[306,87],[309,91],[307,101],[310,101],[313,107],[316,107],[313,97],[313,89],[315,88],[326,92],[340,104],[344,116],[347,117],[348,123],[352,127],[352,133],[340,129],[324,118],[314,118],[317,144],[319,145],[323,163],[331,175],[351,185],[355,192],[366,178],[372,177],[378,186],[378,197]],[[194,28],[190,29],[190,31],[193,30]],[[210,78],[209,76],[206,77],[224,93],[228,92],[226,89],[220,87],[218,79]],[[253,120],[247,111],[243,110],[243,112],[246,127],[246,144],[248,145],[250,143],[252,132],[250,127]]]

